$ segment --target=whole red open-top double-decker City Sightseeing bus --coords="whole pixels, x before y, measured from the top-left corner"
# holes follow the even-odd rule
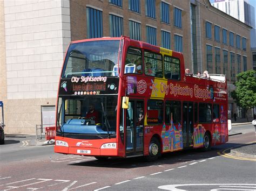
[[[129,37],[73,41],[59,81],[55,152],[146,156],[228,141],[223,75],[185,75],[183,55]]]

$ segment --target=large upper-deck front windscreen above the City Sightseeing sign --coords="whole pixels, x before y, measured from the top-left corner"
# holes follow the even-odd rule
[[[74,43],[66,54],[62,78],[71,76],[115,76],[119,40]]]

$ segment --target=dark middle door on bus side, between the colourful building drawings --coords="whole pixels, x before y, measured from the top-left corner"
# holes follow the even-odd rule
[[[193,103],[183,102],[183,147],[193,146]]]

